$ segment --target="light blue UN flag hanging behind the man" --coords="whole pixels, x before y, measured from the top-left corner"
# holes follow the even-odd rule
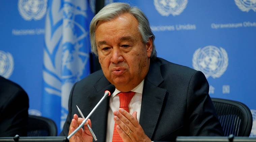
[[[89,24],[94,15],[87,0],[49,0],[46,15],[42,116],[56,122],[58,134],[68,113],[75,82],[90,73]]]

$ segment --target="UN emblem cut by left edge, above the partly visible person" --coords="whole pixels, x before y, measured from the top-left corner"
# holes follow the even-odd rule
[[[0,50],[0,75],[9,78],[13,71],[13,57],[9,52]]]

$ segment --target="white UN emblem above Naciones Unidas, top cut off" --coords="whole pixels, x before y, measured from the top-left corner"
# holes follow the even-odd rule
[[[187,6],[188,0],[154,0],[155,9],[162,16],[179,15]]]

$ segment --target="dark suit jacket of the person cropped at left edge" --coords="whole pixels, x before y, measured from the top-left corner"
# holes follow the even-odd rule
[[[0,137],[27,136],[28,107],[27,93],[0,76]]]

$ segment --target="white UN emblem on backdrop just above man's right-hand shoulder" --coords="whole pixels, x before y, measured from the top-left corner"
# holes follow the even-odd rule
[[[192,62],[194,69],[202,71],[206,78],[217,78],[227,70],[228,54],[225,49],[210,45],[197,49]]]

